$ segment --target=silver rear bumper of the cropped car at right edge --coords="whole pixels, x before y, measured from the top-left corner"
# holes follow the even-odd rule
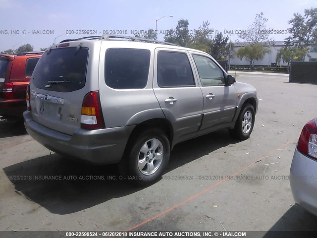
[[[295,149],[290,184],[293,197],[299,205],[317,216],[317,161]]]

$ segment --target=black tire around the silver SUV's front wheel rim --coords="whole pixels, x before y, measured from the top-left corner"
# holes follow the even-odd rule
[[[243,127],[242,122],[245,120],[244,118],[245,118],[245,115],[247,112],[249,112],[252,116],[251,117],[251,119],[252,119],[251,125],[250,125],[250,127],[248,127],[248,126]],[[230,135],[238,140],[248,139],[252,133],[254,122],[255,122],[254,107],[251,104],[246,103],[239,114],[239,117],[236,121],[234,128],[232,130],[229,130]],[[245,128],[245,130],[243,128]]]

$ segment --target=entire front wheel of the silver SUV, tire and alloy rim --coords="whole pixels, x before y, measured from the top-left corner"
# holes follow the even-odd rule
[[[251,104],[247,103],[241,110],[234,129],[230,130],[230,134],[239,140],[248,139],[253,130],[254,122],[254,108]]]

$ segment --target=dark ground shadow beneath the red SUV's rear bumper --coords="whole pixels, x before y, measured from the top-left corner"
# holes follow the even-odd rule
[[[27,134],[23,119],[0,120],[0,138]]]

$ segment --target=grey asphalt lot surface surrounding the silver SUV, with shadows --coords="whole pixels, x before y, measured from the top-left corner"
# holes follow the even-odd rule
[[[0,121],[0,231],[316,230],[288,176],[301,129],[317,117],[317,85],[283,74],[236,79],[258,91],[251,137],[221,130],[178,144],[162,179],[145,188],[120,180],[114,165],[54,154],[21,122]]]

